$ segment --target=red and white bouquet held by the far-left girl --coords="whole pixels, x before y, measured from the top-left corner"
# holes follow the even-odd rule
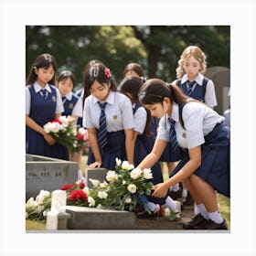
[[[46,123],[43,128],[59,144],[67,146],[73,153],[78,153],[88,144],[87,130],[69,123],[69,116],[60,116],[59,119]]]

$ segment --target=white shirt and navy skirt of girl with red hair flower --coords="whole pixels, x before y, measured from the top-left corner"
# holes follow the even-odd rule
[[[101,108],[99,101],[90,95],[84,101],[83,126],[87,129],[96,128],[99,133]],[[127,160],[125,151],[124,130],[134,128],[133,108],[130,99],[118,91],[110,91],[105,101],[107,123],[107,145],[101,149],[102,168],[114,169],[115,158]],[[89,150],[88,165],[95,162]]]

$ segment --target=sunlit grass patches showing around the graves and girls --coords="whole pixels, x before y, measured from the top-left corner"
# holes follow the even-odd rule
[[[85,173],[85,169],[87,167],[87,156],[83,155],[81,159],[81,169],[82,172]],[[163,173],[164,180],[168,178],[168,172],[165,165],[165,170]],[[224,197],[218,194],[219,201],[219,211],[224,219],[227,220],[228,227],[230,229],[230,199],[228,197]],[[26,220],[26,229],[27,230],[45,230],[46,223],[40,221]]]

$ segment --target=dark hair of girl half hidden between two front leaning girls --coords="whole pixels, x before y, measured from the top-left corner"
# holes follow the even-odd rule
[[[127,92],[131,93],[132,98],[133,98],[133,99],[131,99],[131,101],[133,103],[141,104],[141,102],[139,101],[138,93],[139,93],[142,85],[143,85],[143,81],[140,78],[134,77],[134,76],[129,76],[129,77],[124,78],[121,81],[118,88],[119,88],[120,92],[122,92],[129,98],[130,98],[130,96],[127,95]],[[144,127],[144,135],[148,138],[152,135],[152,133],[150,131],[150,124],[153,121],[153,117],[147,109],[145,109],[145,111],[146,111],[147,115],[146,115],[146,123],[145,123],[145,127]]]

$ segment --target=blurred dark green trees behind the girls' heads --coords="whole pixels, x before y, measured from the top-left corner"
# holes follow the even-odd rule
[[[56,58],[58,72],[75,74],[78,87],[91,59],[104,62],[117,81],[129,62],[141,64],[149,78],[171,81],[189,45],[202,48],[208,67],[229,68],[229,26],[27,26],[26,74],[37,56],[48,52]]]

